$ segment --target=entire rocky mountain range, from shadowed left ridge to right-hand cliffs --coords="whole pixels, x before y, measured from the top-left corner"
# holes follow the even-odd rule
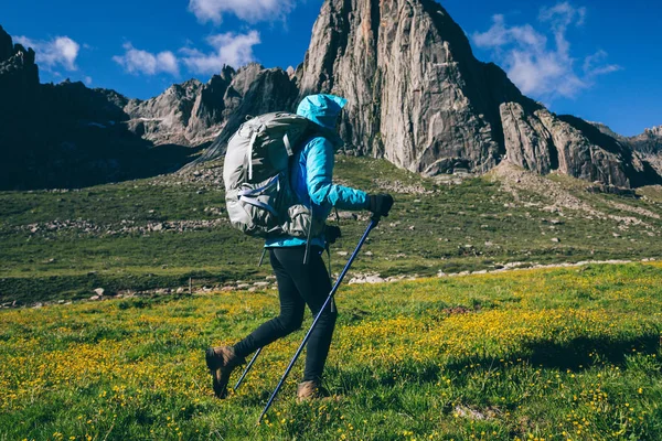
[[[163,144],[181,148],[164,154],[172,154],[166,171],[185,162],[190,147],[209,146],[201,161],[217,158],[247,116],[293,111],[317,93],[349,99],[340,126],[345,149],[426,175],[481,173],[509,161],[618,186],[662,183],[661,128],[623,138],[551,112],[500,67],[478,61],[434,0],[325,0],[296,71],[226,67],[207,83],[191,79],[147,100],[81,83],[40,85],[34,52],[0,28],[0,150],[33,174],[45,170],[50,178],[39,185],[96,182],[58,181],[73,164],[84,170],[81,163],[103,180],[131,176],[126,170],[142,170],[135,152],[154,146],[157,153]],[[9,180],[0,186],[13,179],[32,185],[20,170],[10,166],[14,178],[0,178]]]

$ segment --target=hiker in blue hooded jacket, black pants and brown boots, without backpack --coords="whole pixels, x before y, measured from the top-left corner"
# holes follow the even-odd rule
[[[290,165],[290,184],[300,203],[312,208],[313,218],[325,219],[332,207],[369,209],[387,216],[393,205],[391,195],[367,195],[365,192],[332,183],[334,147],[342,141],[335,125],[346,99],[332,95],[306,97],[297,110],[319,127],[316,135],[295,153]],[[258,348],[299,330],[306,305],[316,316],[331,291],[329,272],[322,260],[327,243],[340,236],[338,227],[327,227],[325,234],[309,240],[293,236],[267,238],[265,248],[278,282],[280,315],[269,320],[234,346],[210,347],[207,367],[213,378],[214,392],[224,398],[233,369],[245,363],[245,357]],[[324,310],[307,344],[306,368],[299,384],[299,400],[324,395],[321,389],[322,372],[335,327],[337,311],[333,302]]]

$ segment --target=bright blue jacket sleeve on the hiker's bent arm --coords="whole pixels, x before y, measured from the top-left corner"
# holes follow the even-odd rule
[[[367,194],[360,190],[335,185],[332,182],[333,144],[324,138],[316,138],[308,146],[306,160],[308,194],[313,204],[329,203],[341,209],[363,209]]]

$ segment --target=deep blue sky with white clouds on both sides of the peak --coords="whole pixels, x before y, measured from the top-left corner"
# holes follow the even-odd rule
[[[662,2],[441,0],[479,60],[557,114],[623,135],[662,125]],[[322,0],[31,0],[0,24],[38,51],[42,82],[66,77],[148,98],[207,80],[223,63],[297,66]]]

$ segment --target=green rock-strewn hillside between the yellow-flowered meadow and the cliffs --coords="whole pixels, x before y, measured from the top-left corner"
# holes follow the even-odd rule
[[[659,187],[632,198],[515,169],[447,183],[381,160],[337,162],[340,182],[396,198],[353,275],[433,276],[509,262],[641,259],[662,250]],[[226,220],[221,174],[220,164],[207,164],[78,191],[0,192],[0,304],[88,298],[95,288],[175,289],[190,278],[196,289],[264,280],[270,268],[257,268],[260,241]],[[367,224],[366,213],[342,217],[335,271]]]

